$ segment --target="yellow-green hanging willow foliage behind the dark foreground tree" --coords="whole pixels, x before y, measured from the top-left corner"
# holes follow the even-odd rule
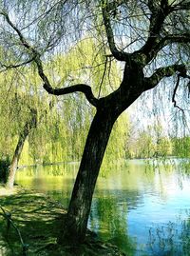
[[[121,82],[120,71],[116,63],[106,62],[107,49],[98,49],[97,43],[98,39],[89,37],[66,54],[54,55],[46,64],[51,84],[62,88],[84,82],[90,84],[98,96],[116,89]],[[104,71],[105,65],[110,65],[108,72]],[[35,109],[37,124],[29,132],[20,165],[79,161],[94,108],[85,103],[82,93],[66,95],[59,101],[54,96],[49,97],[39,87],[41,81],[35,68],[31,66],[21,71],[10,69],[6,75],[0,75],[2,95],[7,95],[0,104],[0,121],[3,124],[0,131],[1,155],[12,155],[19,134],[31,119],[31,109]],[[187,138],[182,144],[178,140],[171,142],[163,134],[161,126],[137,132],[129,123],[127,114],[123,113],[114,125],[105,151],[102,174],[123,158],[188,156],[190,142]]]

